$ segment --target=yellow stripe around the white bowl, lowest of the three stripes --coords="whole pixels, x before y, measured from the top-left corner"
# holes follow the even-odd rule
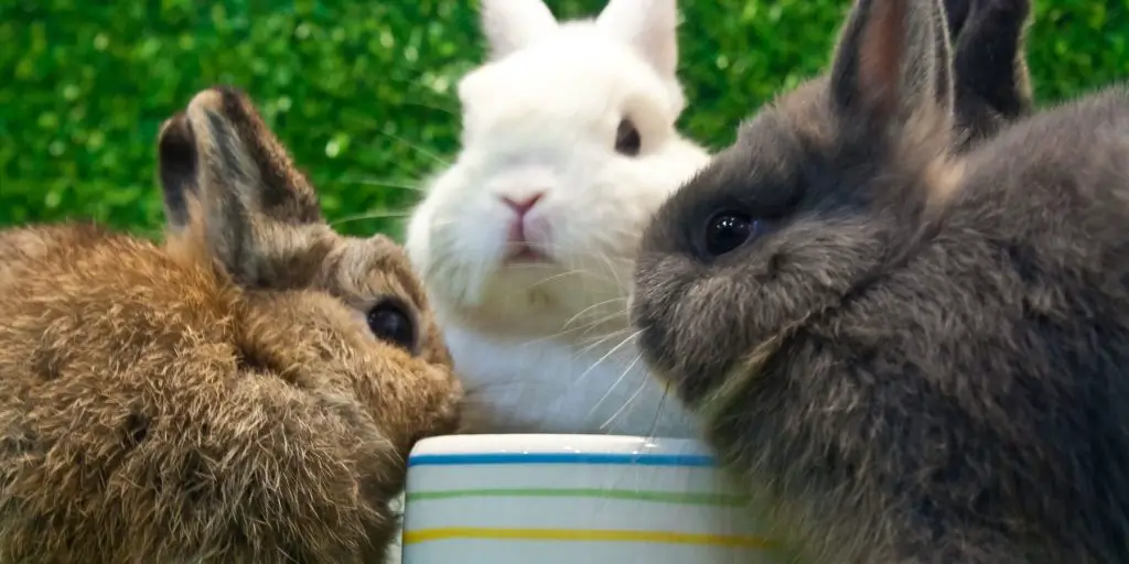
[[[758,537],[729,535],[698,535],[690,532],[599,530],[599,529],[487,529],[475,527],[447,527],[404,531],[403,544],[413,545],[432,540],[474,538],[489,540],[595,540],[611,543],[673,543],[682,545],[715,545],[737,548],[772,548],[773,543]]]

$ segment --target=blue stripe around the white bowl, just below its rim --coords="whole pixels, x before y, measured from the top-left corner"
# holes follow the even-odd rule
[[[583,452],[539,452],[487,455],[415,455],[408,458],[408,466],[457,465],[523,465],[523,464],[588,464],[712,467],[714,458],[701,455],[612,455]]]

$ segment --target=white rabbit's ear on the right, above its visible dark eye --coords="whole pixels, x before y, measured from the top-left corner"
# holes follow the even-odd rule
[[[679,65],[675,0],[611,0],[596,25],[633,46],[663,78],[674,76]]]

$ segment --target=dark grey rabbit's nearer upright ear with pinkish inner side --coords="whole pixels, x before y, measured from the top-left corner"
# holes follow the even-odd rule
[[[947,132],[951,58],[939,0],[856,0],[831,67],[837,111],[870,131],[929,123]]]

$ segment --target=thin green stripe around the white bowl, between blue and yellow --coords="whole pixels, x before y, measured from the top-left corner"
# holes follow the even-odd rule
[[[406,501],[449,500],[454,497],[601,497],[605,500],[634,500],[677,505],[747,506],[747,497],[708,493],[640,492],[636,490],[602,488],[499,488],[499,490],[441,490],[410,492]]]

